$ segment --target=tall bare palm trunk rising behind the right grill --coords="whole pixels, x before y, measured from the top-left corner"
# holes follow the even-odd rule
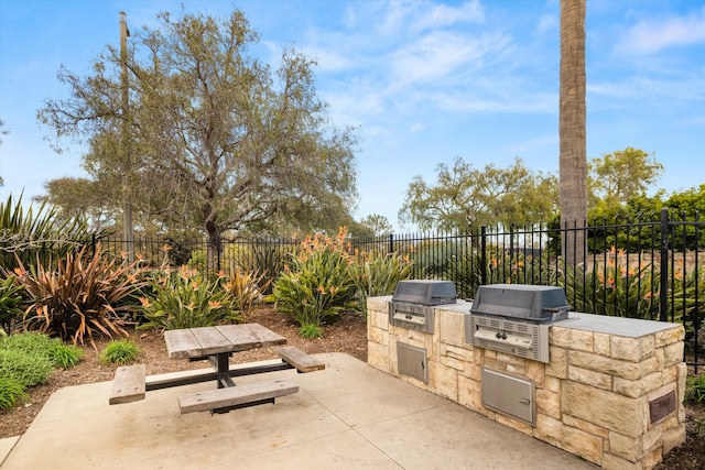
[[[585,1],[561,0],[560,204],[566,265],[585,260],[587,151]]]

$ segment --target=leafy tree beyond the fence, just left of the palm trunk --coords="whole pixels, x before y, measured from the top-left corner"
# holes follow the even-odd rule
[[[532,172],[521,159],[507,168],[478,170],[458,157],[453,167],[442,163],[436,172],[433,185],[421,175],[410,183],[399,211],[402,222],[422,230],[524,225],[550,220],[557,209],[555,176]]]

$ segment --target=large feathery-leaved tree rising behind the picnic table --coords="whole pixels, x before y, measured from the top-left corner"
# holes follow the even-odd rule
[[[70,98],[47,99],[37,113],[57,138],[89,143],[84,166],[98,187],[171,225],[202,229],[212,255],[228,230],[319,228],[347,215],[355,136],[328,122],[314,61],[288,48],[273,70],[248,55],[259,37],[239,10],[226,20],[159,19],[159,29],[132,35],[129,80],[120,80],[120,53],[108,46],[90,76],[62,68]]]

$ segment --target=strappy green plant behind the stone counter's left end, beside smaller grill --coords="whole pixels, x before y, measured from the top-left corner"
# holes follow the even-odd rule
[[[391,295],[399,281],[411,277],[411,262],[399,254],[360,253],[350,269],[355,275],[355,297],[365,318],[368,297]]]

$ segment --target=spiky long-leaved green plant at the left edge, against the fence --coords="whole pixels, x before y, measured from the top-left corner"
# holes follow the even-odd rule
[[[83,219],[63,219],[46,200],[36,210],[34,205],[25,209],[21,195],[17,201],[12,195],[0,201],[0,265],[9,272],[20,263],[47,264],[89,244],[91,237]]]

